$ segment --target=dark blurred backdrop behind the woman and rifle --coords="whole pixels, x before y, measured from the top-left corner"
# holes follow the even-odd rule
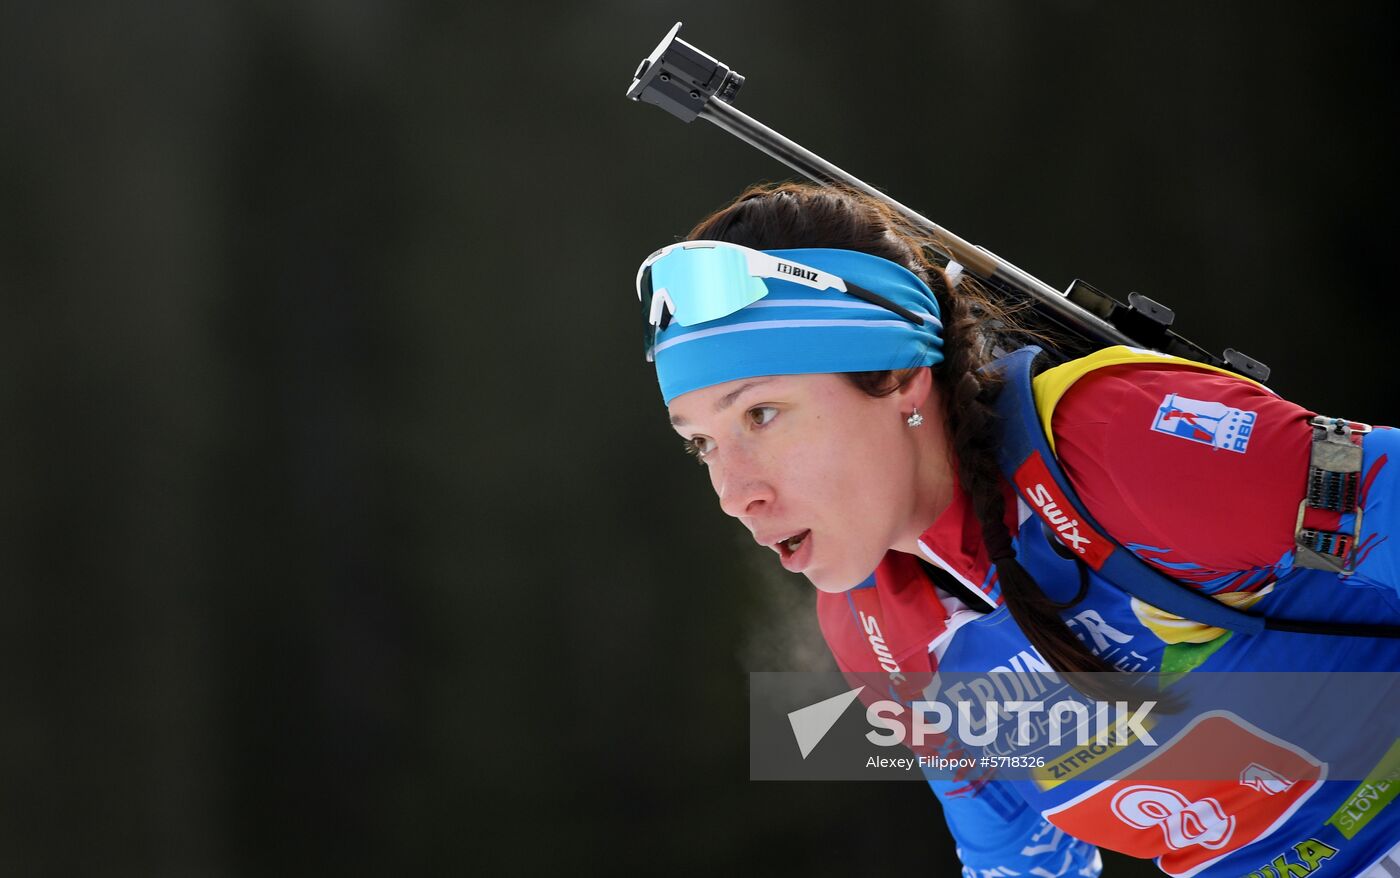
[[[921,784],[746,780],[745,672],[829,658],[631,280],[787,174],[623,99],[678,20],[965,238],[1400,421],[1385,4],[3,4],[0,871],[953,872]]]

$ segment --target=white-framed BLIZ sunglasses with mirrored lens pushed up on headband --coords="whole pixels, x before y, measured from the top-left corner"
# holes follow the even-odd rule
[[[724,241],[682,241],[647,256],[637,269],[637,300],[647,322],[647,361],[655,358],[657,333],[672,321],[694,326],[729,316],[767,295],[769,280],[785,280],[822,293],[844,293],[906,321],[924,322],[883,295],[801,262]]]

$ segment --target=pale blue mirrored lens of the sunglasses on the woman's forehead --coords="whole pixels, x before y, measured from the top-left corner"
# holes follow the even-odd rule
[[[651,288],[671,295],[682,326],[728,316],[769,291],[749,274],[743,252],[728,246],[678,246],[651,266]]]

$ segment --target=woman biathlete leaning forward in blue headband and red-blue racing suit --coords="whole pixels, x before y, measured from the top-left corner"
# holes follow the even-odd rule
[[[1396,431],[1128,347],[994,363],[1014,315],[837,189],[753,188],[637,281],[671,423],[721,508],[819,590],[843,671],[1400,669],[1400,640],[1365,627],[1400,622]],[[1196,604],[1170,612],[1163,583]],[[1358,693],[1357,717],[1392,709]],[[1400,878],[1400,751],[1329,780],[1224,731],[1277,760],[930,783],[965,874],[1093,875],[1106,846],[1172,875]]]

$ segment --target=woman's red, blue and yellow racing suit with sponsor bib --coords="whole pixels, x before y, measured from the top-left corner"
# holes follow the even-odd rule
[[[1389,539],[1400,515],[1400,476],[1390,465],[1400,455],[1400,431],[1376,428],[1364,437],[1362,527],[1350,513],[1312,508],[1302,522],[1313,413],[1256,382],[1119,347],[1039,375],[1033,393],[1051,465],[1096,525],[1152,569],[1254,615],[1400,622],[1400,556]],[[1078,538],[1053,541],[1053,528],[1025,497],[1022,490],[1019,501],[1008,503],[1018,560],[1051,598],[1081,595],[1063,618],[1091,651],[1120,669],[1400,669],[1396,639],[1240,634],[1151,606],[1065,552],[1063,545],[1075,548]],[[1032,500],[1039,503],[1036,494]],[[1354,529],[1354,570],[1338,576],[1296,566],[1295,531],[1303,524]],[[889,552],[857,588],[818,598],[823,634],[843,671],[878,672],[882,660],[886,671],[890,660],[906,671],[1047,667],[1008,616],[980,525],[959,487],[918,546],[924,560],[967,590],[972,604],[937,588],[920,559]],[[865,636],[871,619],[882,630],[883,657],[872,654]],[[1246,725],[1236,731],[1268,738]],[[1397,753],[1392,748],[1379,774],[1359,784],[1315,773],[1298,783],[1148,787],[1133,786],[1131,776],[1077,783],[1071,769],[1063,769],[1068,780],[1043,783],[955,777],[930,784],[970,877],[1093,875],[1096,844],[1155,858],[1182,877],[1291,878],[1320,870],[1326,878],[1372,868],[1400,875],[1400,865],[1386,858],[1400,842],[1400,805],[1392,805],[1400,793]],[[1141,797],[1147,788],[1154,791],[1148,798],[1161,801],[1140,808],[1147,816],[1127,814],[1123,802],[1137,800],[1124,794]],[[1203,808],[1217,819],[1176,819]]]

